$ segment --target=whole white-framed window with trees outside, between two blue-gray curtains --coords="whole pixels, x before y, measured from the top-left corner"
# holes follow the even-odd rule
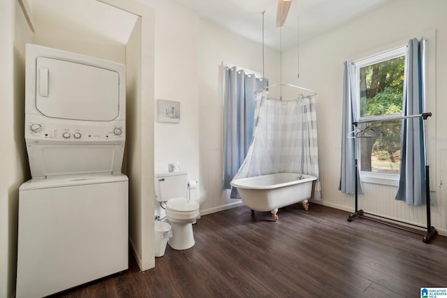
[[[362,181],[394,185],[383,179],[398,179],[402,120],[393,117],[402,116],[405,52],[404,46],[354,62],[359,119],[372,120],[358,126],[370,131],[358,139]],[[374,121],[378,118],[382,121]]]

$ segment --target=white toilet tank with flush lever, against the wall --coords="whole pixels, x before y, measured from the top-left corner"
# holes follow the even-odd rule
[[[159,202],[173,198],[185,198],[188,188],[186,172],[170,172],[155,174],[155,195]]]

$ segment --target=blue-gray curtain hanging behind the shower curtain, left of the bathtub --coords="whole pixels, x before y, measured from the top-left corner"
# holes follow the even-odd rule
[[[223,81],[223,188],[230,189],[253,136],[254,92],[263,87],[263,80],[233,67],[224,69]]]

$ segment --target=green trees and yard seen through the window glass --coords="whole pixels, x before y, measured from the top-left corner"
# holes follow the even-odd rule
[[[360,118],[402,114],[405,56],[359,68]],[[365,123],[381,137],[360,138],[360,170],[399,174],[402,120]]]

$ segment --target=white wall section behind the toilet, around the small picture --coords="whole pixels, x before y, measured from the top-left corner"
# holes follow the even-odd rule
[[[168,163],[178,162],[189,180],[199,179],[198,127],[198,17],[173,1],[159,1],[155,17],[155,101],[180,103],[180,123],[159,122],[155,115],[155,172],[168,172]],[[152,182],[152,181],[148,181]],[[199,181],[200,183],[200,181]],[[198,200],[200,190],[191,191]],[[156,214],[164,210],[155,202]]]

